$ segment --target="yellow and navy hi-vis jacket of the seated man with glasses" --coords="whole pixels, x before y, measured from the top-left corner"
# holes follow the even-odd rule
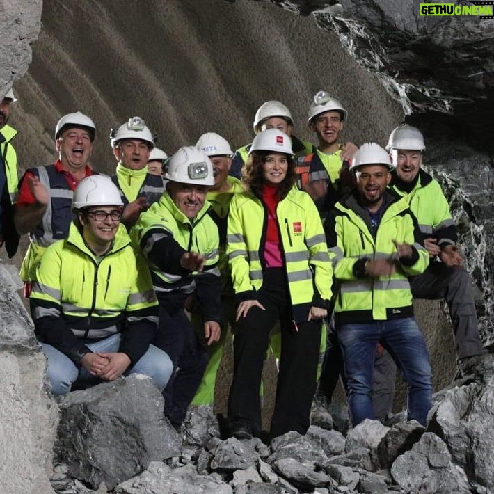
[[[77,226],[71,223],[68,238],[45,250],[30,299],[40,340],[70,357],[76,349],[74,337],[134,332],[134,337],[122,339],[121,351],[135,363],[147,350],[157,327],[157,299],[148,266],[132,248],[123,225],[111,250],[98,263]],[[145,348],[142,343],[130,344],[130,340],[138,339],[135,331],[139,327],[143,330],[141,337],[144,333],[148,337]],[[69,330],[72,334],[67,335]]]

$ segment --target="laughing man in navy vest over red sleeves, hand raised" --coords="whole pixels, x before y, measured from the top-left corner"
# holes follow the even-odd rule
[[[95,133],[93,120],[83,113],[64,115],[55,129],[58,159],[53,165],[29,168],[19,182],[15,228],[19,234],[29,233],[31,240],[21,266],[26,296],[44,250],[69,234],[74,190],[93,174],[89,159]]]

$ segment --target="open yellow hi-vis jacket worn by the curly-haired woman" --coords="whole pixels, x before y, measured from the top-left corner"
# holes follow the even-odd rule
[[[276,208],[281,248],[285,258],[292,312],[307,321],[312,305],[328,306],[332,269],[324,230],[314,202],[294,187]],[[227,254],[233,287],[239,300],[256,298],[262,290],[267,214],[252,193],[239,193],[230,202]]]

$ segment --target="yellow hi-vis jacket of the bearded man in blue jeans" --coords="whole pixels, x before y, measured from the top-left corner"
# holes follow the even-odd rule
[[[335,302],[335,320],[339,324],[413,315],[407,276],[422,273],[429,265],[429,254],[422,245],[417,220],[406,200],[390,190],[385,194],[387,203],[375,237],[370,228],[369,213],[358,205],[356,194],[337,202],[324,224],[335,280],[340,285]],[[413,264],[406,265],[398,260],[394,241],[413,246]],[[392,276],[356,276],[355,265],[359,260],[392,255],[396,256],[397,263]]]

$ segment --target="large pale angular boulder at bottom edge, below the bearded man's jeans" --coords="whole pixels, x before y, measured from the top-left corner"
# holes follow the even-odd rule
[[[411,451],[398,456],[391,466],[391,475],[407,491],[424,494],[470,493],[465,472],[451,460],[443,440],[426,432]]]

